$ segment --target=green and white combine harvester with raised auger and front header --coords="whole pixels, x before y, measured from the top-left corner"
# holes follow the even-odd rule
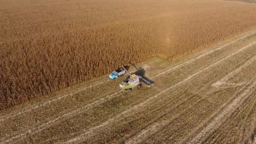
[[[131,92],[133,89],[139,89],[141,88],[142,82],[145,83],[148,87],[154,85],[152,81],[147,80],[141,75],[131,75],[123,66],[122,68],[130,75],[127,80],[124,80],[122,83],[120,83],[119,87],[122,88],[122,90]]]

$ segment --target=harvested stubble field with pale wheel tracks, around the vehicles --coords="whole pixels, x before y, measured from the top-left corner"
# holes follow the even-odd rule
[[[105,75],[0,111],[0,144],[256,142],[256,29],[136,66],[153,87],[126,93]]]

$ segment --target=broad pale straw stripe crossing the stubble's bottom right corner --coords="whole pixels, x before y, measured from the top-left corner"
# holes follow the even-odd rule
[[[187,143],[196,143],[200,139],[202,139],[206,134],[209,135],[209,133],[212,133],[215,129],[219,128],[219,126],[222,124],[228,115],[230,113],[233,113],[237,108],[239,108],[239,103],[242,101],[242,103],[253,93],[255,90],[256,81],[253,82],[252,85],[250,85],[246,90],[238,95],[234,100],[232,100],[232,103],[228,104],[219,114],[216,115],[216,117],[211,120],[211,123],[209,123],[205,128],[203,128],[199,133],[196,133],[195,136],[192,136],[191,139],[187,141]]]

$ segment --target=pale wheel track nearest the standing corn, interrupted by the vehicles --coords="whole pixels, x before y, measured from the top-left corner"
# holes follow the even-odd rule
[[[224,44],[224,45],[221,45],[220,47],[218,47],[218,48],[216,48],[216,49],[214,49],[214,50],[211,50],[211,51],[208,51],[208,52],[206,52],[206,53],[203,53],[203,54],[201,54],[200,56],[197,56],[197,57],[195,57],[195,58],[192,58],[192,59],[190,59],[190,60],[188,60],[188,61],[185,61],[185,62],[183,62],[183,63],[181,63],[181,64],[179,64],[179,65],[177,65],[177,66],[175,66],[175,67],[173,67],[173,68],[171,68],[171,69],[168,69],[168,70],[166,70],[166,71],[164,71],[164,72],[161,72],[161,73],[159,73],[158,75],[155,75],[154,77],[152,77],[152,79],[155,78],[155,77],[158,77],[158,76],[160,76],[160,75],[163,75],[164,73],[170,72],[170,71],[172,71],[172,70],[174,70],[174,69],[177,69],[177,68],[179,68],[179,67],[181,67],[181,66],[183,66],[183,65],[185,65],[185,64],[190,64],[190,63],[192,63],[193,61],[195,61],[195,60],[197,60],[197,59],[203,58],[204,56],[208,56],[208,55],[210,55],[211,53],[214,53],[214,52],[216,52],[216,51],[219,51],[219,50],[223,49],[224,47],[226,47],[226,46],[228,46],[228,45],[231,45],[232,43],[235,43],[235,42],[237,42],[237,41],[239,41],[239,40],[241,40],[241,39],[243,39],[243,38],[245,38],[245,37],[251,36],[251,35],[253,35],[253,34],[255,34],[255,33],[256,33],[256,31],[253,31],[253,32],[251,32],[251,33],[249,33],[249,34],[243,35],[242,37],[239,37],[239,38],[237,38],[237,39],[235,39],[235,40],[232,40],[232,41],[229,42],[229,43],[226,43],[226,44]],[[46,102],[44,102],[43,104],[38,104],[38,105],[35,106],[35,107],[29,108],[29,109],[24,109],[22,112],[18,112],[18,113],[14,113],[14,112],[13,112],[13,113],[11,113],[11,114],[9,114],[9,115],[7,115],[7,116],[0,117],[0,122],[3,122],[3,121],[5,121],[5,120],[7,120],[7,119],[9,119],[9,118],[12,118],[12,117],[16,117],[16,116],[18,116],[18,115],[22,115],[22,114],[27,113],[27,112],[31,112],[32,110],[37,109],[37,108],[39,108],[39,107],[45,107],[45,106],[47,106],[48,104],[51,104],[53,101],[59,101],[59,100],[65,98],[65,97],[67,97],[67,96],[74,95],[75,93],[78,93],[78,92],[80,92],[80,91],[84,91],[85,89],[88,89],[88,88],[92,88],[92,87],[94,87],[94,86],[96,86],[96,85],[100,85],[100,84],[106,83],[107,81],[109,81],[109,80],[106,80],[106,81],[103,81],[103,82],[100,82],[100,83],[96,83],[96,84],[94,84],[94,85],[90,85],[90,86],[88,86],[88,87],[86,87],[86,88],[83,88],[83,89],[78,90],[77,92],[69,93],[69,94],[64,95],[64,96],[61,96],[61,97],[59,97],[59,98],[52,99],[51,101],[46,101]]]

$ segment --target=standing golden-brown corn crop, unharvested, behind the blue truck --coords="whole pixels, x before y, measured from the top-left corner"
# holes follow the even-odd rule
[[[255,27],[255,5],[222,0],[1,0],[0,109]]]

